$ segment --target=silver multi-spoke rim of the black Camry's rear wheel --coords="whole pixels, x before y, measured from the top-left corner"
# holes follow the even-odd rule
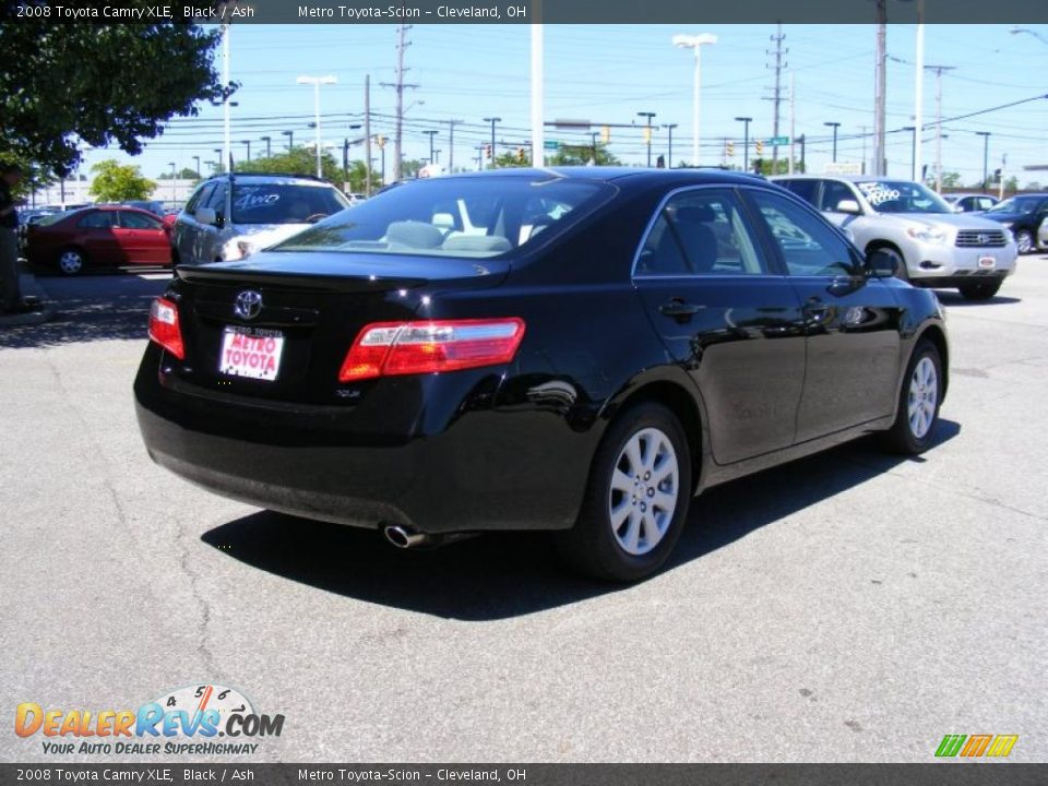
[[[647,428],[630,437],[615,463],[608,516],[622,549],[645,555],[662,541],[680,493],[677,453],[669,438]]]

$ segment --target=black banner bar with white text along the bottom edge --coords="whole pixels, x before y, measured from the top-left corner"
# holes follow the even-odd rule
[[[0,784],[386,786],[1044,786],[1048,765],[929,764],[0,764]]]

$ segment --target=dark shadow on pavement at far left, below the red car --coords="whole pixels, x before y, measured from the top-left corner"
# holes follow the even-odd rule
[[[150,303],[167,286],[165,279],[119,273],[53,277],[40,283],[53,315],[41,324],[0,330],[0,348],[144,340]]]

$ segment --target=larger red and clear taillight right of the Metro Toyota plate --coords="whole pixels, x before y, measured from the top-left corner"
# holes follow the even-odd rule
[[[338,381],[498,366],[513,359],[523,337],[516,318],[376,322],[357,335]]]

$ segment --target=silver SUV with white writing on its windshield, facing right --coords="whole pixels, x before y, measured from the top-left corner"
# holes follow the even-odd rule
[[[825,213],[867,253],[897,257],[898,277],[914,286],[956,287],[969,300],[987,300],[1015,272],[1019,250],[1005,227],[955,213],[920,183],[860,176],[772,180]]]

